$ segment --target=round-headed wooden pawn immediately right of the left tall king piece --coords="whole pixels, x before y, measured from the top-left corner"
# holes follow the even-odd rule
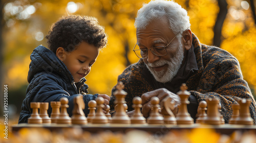
[[[146,119],[143,117],[143,114],[140,111],[142,100],[140,97],[133,98],[133,108],[134,114],[131,117],[132,124],[146,124]]]

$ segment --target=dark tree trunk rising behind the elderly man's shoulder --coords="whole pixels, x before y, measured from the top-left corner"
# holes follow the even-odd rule
[[[220,12],[218,13],[215,26],[214,26],[214,42],[213,44],[215,46],[220,46],[221,45],[221,31],[222,31],[222,26],[223,22],[226,18],[227,15],[227,2],[226,0],[218,0]]]

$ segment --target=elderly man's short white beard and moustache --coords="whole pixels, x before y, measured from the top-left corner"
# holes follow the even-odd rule
[[[161,59],[159,61],[156,61],[154,63],[147,63],[146,66],[148,70],[150,70],[151,74],[154,76],[156,81],[161,83],[166,83],[171,81],[176,74],[178,73],[180,66],[182,64],[182,60],[184,59],[184,53],[182,48],[182,43],[179,41],[179,49],[176,53],[176,55],[171,58],[169,61],[166,61],[164,59]],[[156,66],[162,66],[164,64],[167,64],[167,70],[163,69],[161,71],[155,71],[153,67]]]

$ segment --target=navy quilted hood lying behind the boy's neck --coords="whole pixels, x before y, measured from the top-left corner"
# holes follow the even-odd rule
[[[37,46],[30,56],[28,82],[30,83],[33,77],[42,71],[47,73],[58,73],[67,82],[74,81],[70,71],[59,58],[45,46]]]

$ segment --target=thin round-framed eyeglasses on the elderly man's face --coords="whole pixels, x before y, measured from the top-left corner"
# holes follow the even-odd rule
[[[180,32],[178,32],[175,37],[179,34]],[[175,38],[174,37],[174,38]],[[172,40],[170,40],[170,42],[166,45],[166,46],[155,46],[155,47],[152,47],[152,49],[138,49],[138,50],[134,50],[137,43],[135,44],[134,48],[133,48],[133,51],[134,53],[136,54],[137,57],[141,58],[141,59],[145,59],[147,58],[147,51],[150,50],[154,55],[156,56],[165,56],[167,55],[167,50],[166,50],[166,47],[172,43],[172,41],[174,40],[174,38]]]

